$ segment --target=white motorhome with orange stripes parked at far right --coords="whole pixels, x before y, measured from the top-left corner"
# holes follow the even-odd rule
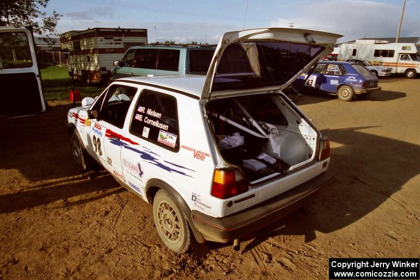
[[[420,45],[415,43],[389,43],[378,40],[356,40],[342,43],[338,60],[368,60],[373,65],[392,67],[391,73],[414,79],[420,73]]]

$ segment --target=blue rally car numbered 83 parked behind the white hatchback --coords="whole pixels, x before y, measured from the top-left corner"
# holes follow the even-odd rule
[[[350,101],[355,95],[368,95],[380,90],[378,78],[362,65],[353,62],[320,61],[305,81],[307,76],[308,73],[300,76],[294,85],[301,90],[336,93],[343,101]]]

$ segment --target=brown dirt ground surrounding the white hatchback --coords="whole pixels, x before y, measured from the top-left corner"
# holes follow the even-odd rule
[[[336,182],[240,251],[170,252],[149,204],[104,171],[77,169],[71,105],[0,120],[0,279],[328,279],[330,257],[418,258],[420,79],[379,85],[368,100],[297,102],[332,140]]]

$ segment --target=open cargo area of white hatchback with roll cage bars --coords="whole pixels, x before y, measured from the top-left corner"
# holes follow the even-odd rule
[[[210,127],[226,162],[250,183],[287,174],[314,158],[317,132],[280,94],[210,101]]]

